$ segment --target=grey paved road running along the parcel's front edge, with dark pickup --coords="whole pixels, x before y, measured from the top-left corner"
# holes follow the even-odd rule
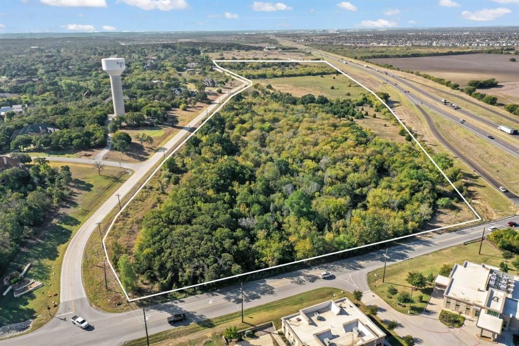
[[[490,222],[456,232],[429,234],[414,238],[407,243],[397,244],[388,249],[389,263],[396,263],[461,244],[480,237],[483,227],[488,228],[492,225],[504,227],[510,220],[517,221],[519,218],[514,216],[499,222]],[[318,287],[367,291],[369,289],[366,282],[367,273],[384,265],[384,251],[384,249],[380,249],[365,255],[246,283],[243,285],[245,308],[290,297]],[[321,280],[318,274],[323,270],[331,271],[334,276],[330,280]],[[72,314],[66,314],[60,317],[67,317],[67,321],[56,318],[30,334],[2,341],[2,345],[121,345],[125,341],[145,336],[142,312],[139,310],[108,314],[91,308],[85,297],[78,296],[75,296],[74,301],[70,303],[75,305],[76,313],[84,316],[92,324],[93,329],[79,329],[69,321]],[[240,288],[238,286],[227,287],[147,308],[148,331],[153,334],[173,328],[166,323],[166,317],[172,313],[185,313],[188,316],[185,324],[188,324],[239,310]],[[251,321],[253,322],[252,318]]]

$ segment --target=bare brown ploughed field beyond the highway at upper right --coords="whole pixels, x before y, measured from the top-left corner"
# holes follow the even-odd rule
[[[418,58],[370,59],[379,64],[391,64],[401,70],[420,71],[467,85],[471,79],[496,78],[497,81],[518,82],[519,69],[507,54],[466,54]]]

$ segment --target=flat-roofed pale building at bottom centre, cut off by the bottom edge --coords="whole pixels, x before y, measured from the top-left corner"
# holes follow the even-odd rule
[[[301,309],[281,324],[293,346],[382,346],[386,337],[348,298]]]

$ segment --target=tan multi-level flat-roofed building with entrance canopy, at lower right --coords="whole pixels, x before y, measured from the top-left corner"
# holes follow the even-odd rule
[[[519,277],[488,264],[455,264],[448,277],[438,275],[444,288],[443,307],[477,317],[476,326],[495,340],[503,330],[519,330]]]

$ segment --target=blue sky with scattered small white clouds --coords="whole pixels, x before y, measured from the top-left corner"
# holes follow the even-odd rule
[[[519,0],[0,0],[0,32],[519,25]]]

